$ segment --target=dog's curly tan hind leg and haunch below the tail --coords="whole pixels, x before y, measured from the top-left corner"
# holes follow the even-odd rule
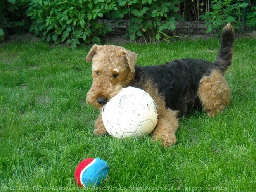
[[[214,70],[201,79],[197,95],[207,115],[214,116],[228,106],[231,94],[223,74]]]

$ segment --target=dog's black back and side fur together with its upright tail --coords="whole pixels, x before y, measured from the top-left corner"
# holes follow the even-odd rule
[[[224,73],[231,65],[234,32],[226,26],[221,35],[221,47],[214,63],[200,59],[181,59],[158,66],[135,66],[134,86],[143,89],[144,81],[155,83],[163,95],[166,107],[179,111],[179,116],[202,107],[197,96],[200,80],[213,69]]]

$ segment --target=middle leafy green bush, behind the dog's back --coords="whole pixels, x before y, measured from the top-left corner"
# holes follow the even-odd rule
[[[143,37],[145,42],[154,42],[164,29],[175,29],[179,0],[118,0],[118,3],[119,9],[112,12],[112,19],[123,19],[129,13],[130,25],[125,37],[131,40]]]

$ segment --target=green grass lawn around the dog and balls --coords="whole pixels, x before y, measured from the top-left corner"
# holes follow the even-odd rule
[[[219,41],[123,47],[145,66],[184,57],[214,61]],[[92,83],[89,49],[0,45],[0,191],[84,191],[77,189],[74,171],[88,157],[109,164],[109,179],[100,186],[105,191],[256,191],[255,38],[235,40],[225,74],[230,106],[214,118],[195,111],[180,119],[171,149],[150,136],[93,135],[99,112],[85,103]]]

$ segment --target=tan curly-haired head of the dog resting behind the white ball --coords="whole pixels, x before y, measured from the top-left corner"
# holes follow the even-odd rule
[[[137,54],[114,45],[93,45],[86,62],[92,61],[93,83],[86,102],[102,108],[133,79]]]

